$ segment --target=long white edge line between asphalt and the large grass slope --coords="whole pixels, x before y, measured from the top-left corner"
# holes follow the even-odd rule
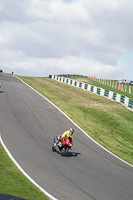
[[[16,76],[15,76],[16,77]],[[16,77],[18,78],[18,77]],[[111,155],[113,155],[114,157],[116,157],[117,159],[121,160],[122,162],[126,163],[127,165],[129,165],[130,167],[133,167],[132,164],[126,162],[125,160],[121,159],[120,157],[118,157],[117,155],[113,154],[111,151],[109,151],[108,149],[106,149],[105,147],[103,147],[101,144],[99,144],[98,142],[96,142],[96,140],[94,140],[91,136],[89,136],[83,129],[81,129],[72,119],[70,119],[62,110],[60,110],[55,104],[53,104],[50,100],[48,100],[45,96],[43,96],[42,94],[40,94],[38,91],[36,91],[34,88],[32,88],[30,85],[28,85],[27,83],[25,83],[22,79],[18,78],[20,81],[22,81],[24,84],[26,84],[28,87],[30,87],[32,90],[34,90],[35,92],[37,92],[41,97],[43,97],[45,100],[47,100],[50,104],[52,104],[57,110],[59,110],[63,115],[65,115],[66,118],[68,118],[75,126],[77,126],[77,128],[79,128],[88,138],[90,138],[94,143],[96,143],[98,146],[100,146],[102,149],[104,149],[105,151],[107,151],[108,153],[110,153]],[[53,80],[53,79],[52,79]]]

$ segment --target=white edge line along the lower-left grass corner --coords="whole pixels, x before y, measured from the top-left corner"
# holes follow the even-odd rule
[[[14,164],[18,167],[18,169],[37,187],[39,188],[46,196],[48,196],[51,200],[57,200],[55,197],[53,197],[51,194],[49,194],[47,191],[45,191],[42,187],[40,187],[23,169],[22,167],[17,163],[17,161],[13,158],[9,150],[7,149],[6,145],[4,144],[2,137],[0,135],[0,142],[2,146],[4,147],[6,153],[10,157],[10,159],[14,162]]]

